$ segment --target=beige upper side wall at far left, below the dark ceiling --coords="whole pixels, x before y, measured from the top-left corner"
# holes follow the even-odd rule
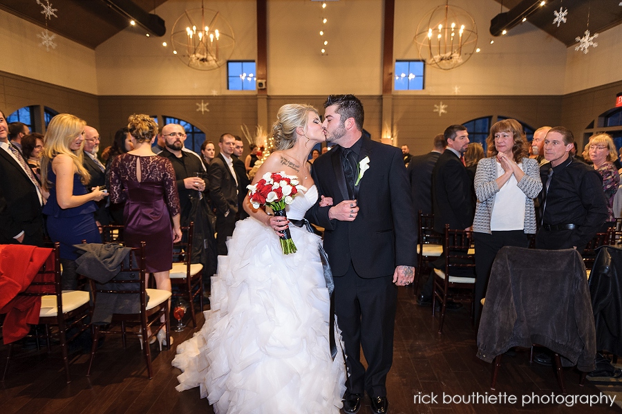
[[[37,37],[43,30],[0,10],[0,70],[96,94],[95,51],[56,35],[58,46],[46,52]]]

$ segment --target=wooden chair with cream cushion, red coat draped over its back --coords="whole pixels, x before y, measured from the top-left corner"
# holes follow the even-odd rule
[[[52,352],[50,339],[58,337],[64,362],[67,384],[71,382],[69,374],[68,343],[88,330],[85,319],[91,314],[91,295],[82,290],[65,290],[61,288],[61,267],[59,258],[59,243],[55,243],[50,253],[53,260],[44,264],[30,286],[19,293],[20,296],[41,297],[41,310],[39,311],[39,325],[45,325],[44,333],[33,335],[39,347],[39,339],[45,339],[48,353]],[[53,265],[49,265],[53,263]],[[62,309],[62,312],[58,312]],[[50,326],[57,326],[55,332]],[[38,331],[36,331],[38,332]],[[69,335],[71,332],[71,335]],[[12,345],[8,345],[6,366],[2,375],[5,379],[11,358]]]

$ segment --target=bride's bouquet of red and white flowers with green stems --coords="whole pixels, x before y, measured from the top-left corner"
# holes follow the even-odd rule
[[[255,185],[247,186],[248,198],[254,208],[267,205],[274,211],[275,216],[287,217],[285,205],[292,204],[298,191],[305,191],[299,184],[298,177],[287,176],[285,171],[279,173],[265,173]],[[283,254],[296,253],[296,245],[292,240],[290,229],[283,231],[281,236]]]

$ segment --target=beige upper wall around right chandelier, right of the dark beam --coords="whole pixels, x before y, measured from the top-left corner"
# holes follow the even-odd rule
[[[419,59],[413,41],[417,24],[442,1],[395,1],[396,60]],[[426,68],[424,91],[398,91],[399,95],[560,95],[564,89],[566,47],[526,22],[505,36],[492,37],[490,20],[499,12],[493,0],[453,0],[451,6],[469,11],[478,28],[478,47],[468,62],[453,70]],[[490,40],[495,41],[490,44]],[[552,75],[554,74],[554,75]]]

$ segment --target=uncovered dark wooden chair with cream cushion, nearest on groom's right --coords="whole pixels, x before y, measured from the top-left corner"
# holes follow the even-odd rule
[[[447,301],[470,301],[471,318],[475,306],[475,251],[471,248],[473,232],[449,229],[445,225],[443,250],[445,270],[434,269],[432,293],[432,316],[436,310],[436,299],[441,302],[438,333],[443,332]],[[470,276],[470,275],[473,276]],[[469,275],[469,276],[466,276]]]

